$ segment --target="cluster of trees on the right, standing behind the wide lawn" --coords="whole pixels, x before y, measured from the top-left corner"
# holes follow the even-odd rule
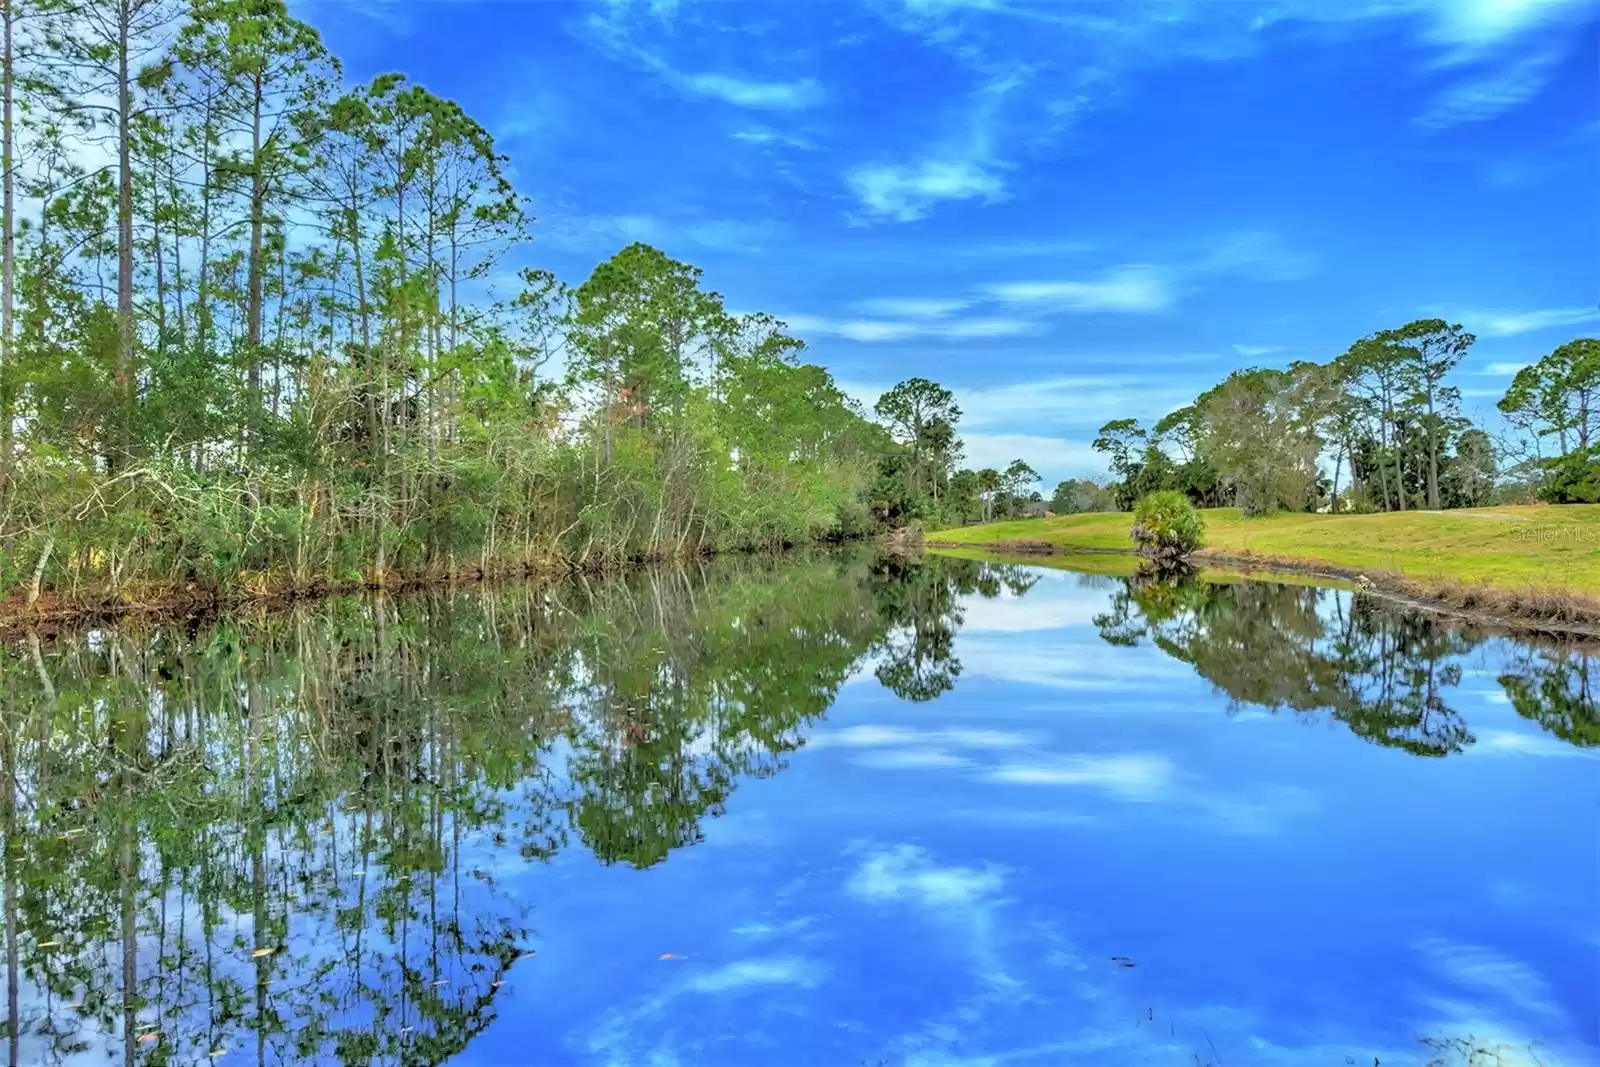
[[[1458,323],[1416,320],[1326,363],[1234,371],[1149,427],[1112,419],[1094,438],[1114,475],[1107,488],[1118,509],[1176,490],[1245,514],[1600,501],[1590,445],[1600,341],[1520,370],[1499,402],[1520,432],[1498,438],[1461,414],[1450,382],[1474,342]]]

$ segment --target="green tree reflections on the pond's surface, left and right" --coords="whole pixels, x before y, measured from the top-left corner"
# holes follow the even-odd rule
[[[6,648],[6,1062],[445,1062],[510,1022],[507,976],[542,945],[525,872],[573,854],[662,865],[864,669],[920,705],[957,689],[968,613],[1027,611],[1038,581],[963,560],[741,560]],[[1483,640],[1469,632],[1301,585],[1083,581],[1106,643],[1154,646],[1235,707],[1326,713],[1416,755],[1475,744],[1451,707]],[[1520,715],[1595,744],[1586,653],[1496,656]],[[864,899],[912,886],[938,904],[987,877],[901,867]]]

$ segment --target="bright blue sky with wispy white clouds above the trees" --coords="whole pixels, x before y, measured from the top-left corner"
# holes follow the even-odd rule
[[[1600,330],[1595,0],[298,10],[496,133],[526,262],[650,242],[862,398],[946,382],[968,461],[1046,485],[1235,366],[1438,314],[1490,418]]]

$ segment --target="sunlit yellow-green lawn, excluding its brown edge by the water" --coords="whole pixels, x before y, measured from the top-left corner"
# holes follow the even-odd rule
[[[1483,507],[1386,515],[1282,514],[1245,518],[1205,512],[1203,550],[1387,571],[1411,579],[1488,582],[1507,589],[1600,590],[1600,504]],[[930,542],[995,545],[1035,541],[1064,549],[1130,549],[1126,514],[1024,518],[928,534]]]

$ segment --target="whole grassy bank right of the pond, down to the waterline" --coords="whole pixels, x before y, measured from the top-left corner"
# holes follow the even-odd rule
[[[1382,590],[1528,622],[1600,621],[1600,506],[1491,507],[1382,515],[1205,512],[1206,563],[1365,576]],[[1130,517],[1062,515],[942,530],[930,547],[1126,552]]]

